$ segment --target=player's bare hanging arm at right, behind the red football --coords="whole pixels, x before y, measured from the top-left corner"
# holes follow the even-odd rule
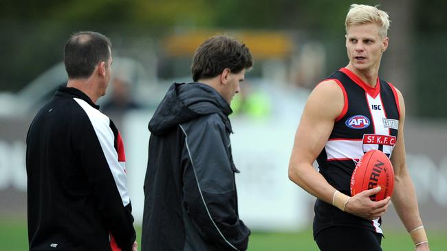
[[[393,164],[395,181],[393,193],[393,205],[399,215],[406,230],[409,232],[419,226],[422,226],[422,220],[419,216],[419,208],[417,206],[417,198],[413,181],[408,174],[405,160],[405,143],[404,143],[404,120],[405,120],[405,104],[402,93],[397,91],[400,104],[399,134],[397,142],[391,155],[391,163]],[[417,250],[428,250],[428,243],[417,246]]]

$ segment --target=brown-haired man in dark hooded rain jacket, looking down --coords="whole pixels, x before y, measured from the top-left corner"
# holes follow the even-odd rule
[[[173,84],[149,122],[142,250],[246,250],[228,115],[252,56],[215,36],[195,51],[193,83]]]

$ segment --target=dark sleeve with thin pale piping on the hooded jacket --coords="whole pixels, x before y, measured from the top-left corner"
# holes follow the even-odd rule
[[[199,235],[221,250],[246,250],[250,229],[237,213],[235,174],[226,129],[208,119],[184,130],[184,204]],[[228,142],[227,142],[228,141]]]

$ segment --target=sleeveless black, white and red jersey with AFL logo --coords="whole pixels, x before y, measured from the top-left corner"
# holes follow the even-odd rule
[[[351,175],[364,153],[375,149],[391,156],[397,139],[399,101],[392,84],[378,78],[373,88],[347,68],[336,71],[327,80],[340,86],[345,105],[317,158],[318,169],[331,186],[350,195]],[[363,219],[318,199],[314,211],[314,236],[330,226],[367,228],[382,234],[381,219]]]

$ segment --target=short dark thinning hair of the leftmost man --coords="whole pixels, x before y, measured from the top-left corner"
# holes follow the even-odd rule
[[[65,71],[71,79],[86,78],[96,64],[110,58],[111,42],[98,32],[77,32],[64,48]]]

